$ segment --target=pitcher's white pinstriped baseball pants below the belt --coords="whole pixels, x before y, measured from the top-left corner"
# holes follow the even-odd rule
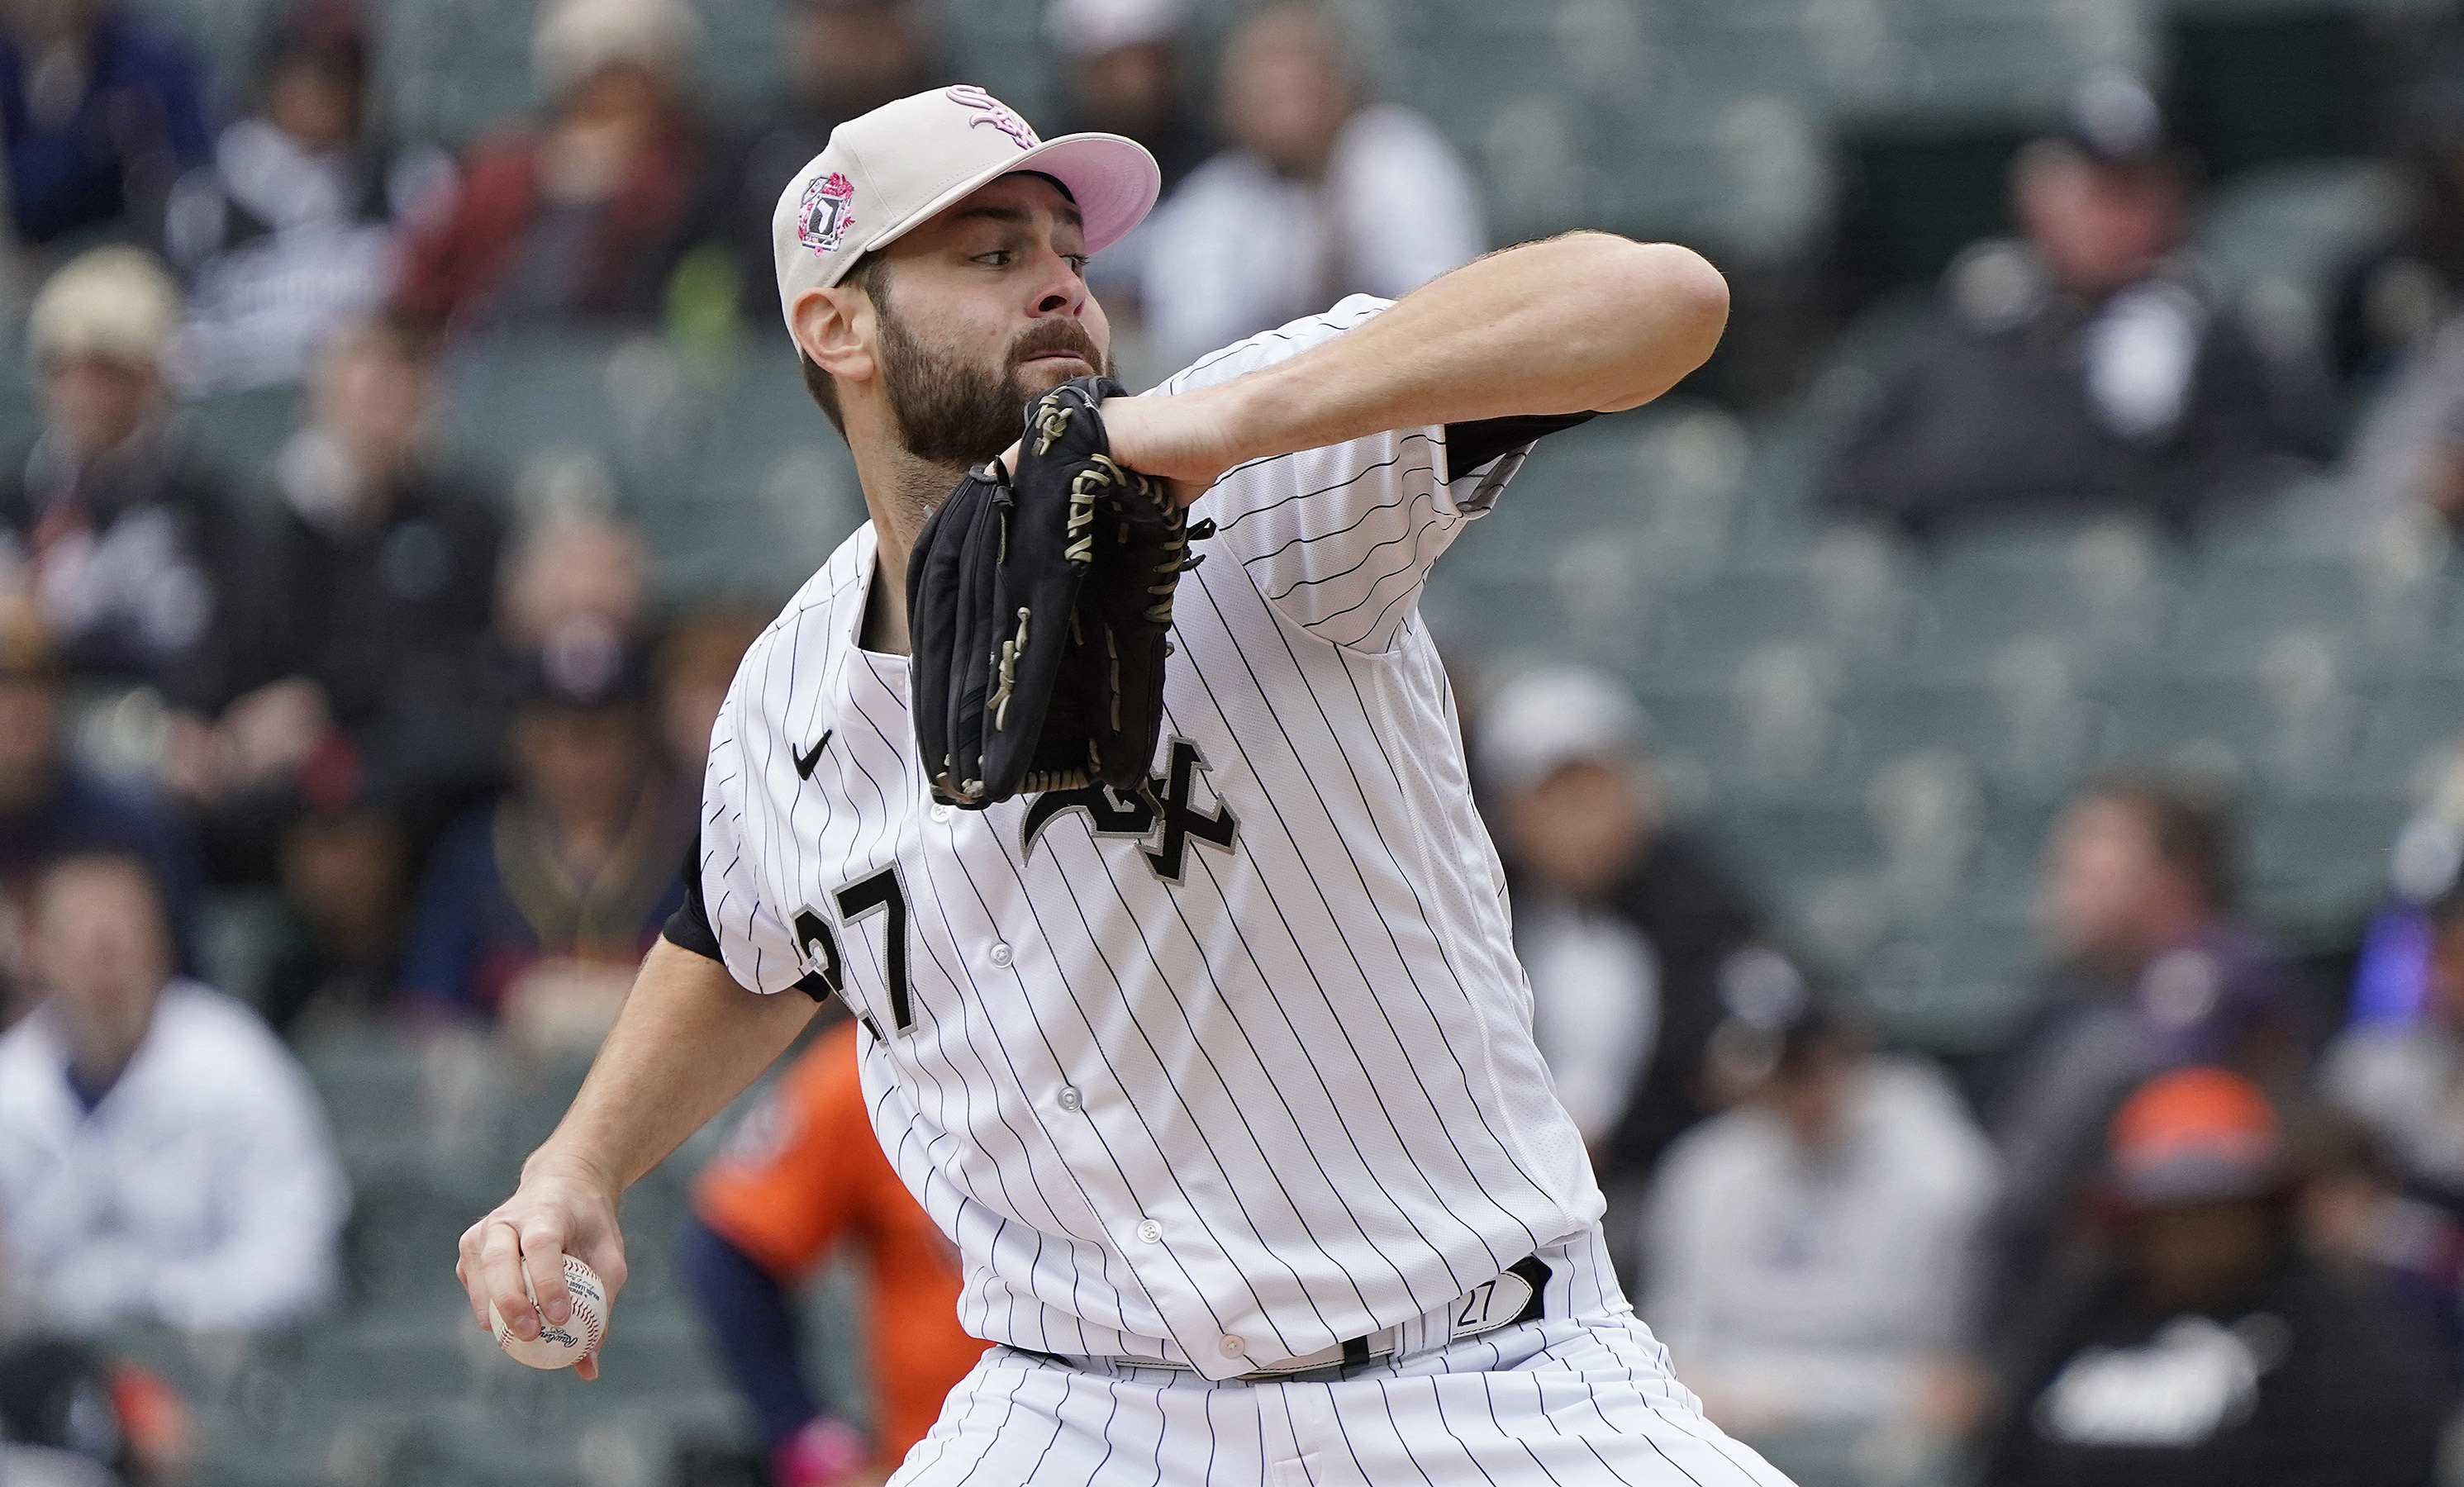
[[[1784,1487],[1710,1425],[1597,1231],[1540,1251],[1547,1317],[1306,1381],[993,1349],[894,1487]]]

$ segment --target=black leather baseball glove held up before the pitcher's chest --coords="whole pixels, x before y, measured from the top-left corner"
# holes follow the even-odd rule
[[[909,692],[939,800],[1146,788],[1173,588],[1215,524],[1114,463],[1101,401],[1124,394],[1074,377],[1027,404],[1018,470],[971,473],[917,537]]]

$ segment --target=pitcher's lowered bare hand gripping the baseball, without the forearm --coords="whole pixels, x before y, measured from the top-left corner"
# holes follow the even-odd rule
[[[471,1320],[493,1339],[495,1332],[488,1329],[493,1302],[505,1327],[522,1342],[540,1334],[540,1312],[562,1327],[574,1310],[564,1290],[564,1256],[577,1256],[599,1273],[614,1307],[626,1280],[616,1194],[579,1167],[535,1160],[522,1169],[522,1187],[463,1231],[453,1275],[471,1295]],[[537,1307],[522,1290],[525,1273],[530,1290],[540,1295]],[[604,1337],[599,1347],[606,1347]],[[574,1371],[596,1379],[599,1354],[574,1364]]]

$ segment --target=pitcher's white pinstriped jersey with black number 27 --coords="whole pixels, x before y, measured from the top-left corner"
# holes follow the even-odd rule
[[[1217,352],[1230,382],[1377,315]],[[1597,1221],[1530,1036],[1417,596],[1520,465],[1444,428],[1276,455],[1195,510],[1153,798],[934,805],[907,660],[857,647],[872,527],[754,643],[712,736],[702,901],[759,992],[843,987],[961,1322],[1210,1379],[1407,1322]]]

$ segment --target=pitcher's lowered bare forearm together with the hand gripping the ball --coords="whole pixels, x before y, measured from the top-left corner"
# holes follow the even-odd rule
[[[658,940],[574,1105],[522,1162],[522,1184],[463,1231],[453,1273],[471,1317],[488,1327],[493,1305],[525,1342],[542,1320],[562,1325],[564,1256],[596,1270],[609,1295],[623,1290],[623,1192],[769,1068],[813,1009],[801,992],[756,997],[717,960]],[[584,1379],[596,1371],[596,1359],[582,1361]]]

